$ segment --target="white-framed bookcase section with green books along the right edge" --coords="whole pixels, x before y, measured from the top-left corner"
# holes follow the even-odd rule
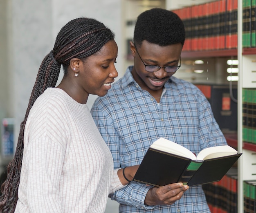
[[[240,70],[238,73],[240,99],[238,103],[238,150],[243,152],[238,162],[238,213],[255,212],[256,207],[255,205],[248,206],[247,201],[248,199],[255,201],[255,194],[251,192],[255,192],[254,180],[256,180],[256,138],[253,138],[256,133],[252,128],[255,129],[256,126],[252,125],[252,120],[248,119],[251,117],[248,115],[249,112],[253,112],[249,105],[256,91],[255,6],[255,0],[238,1],[238,69]],[[254,17],[251,16],[248,19],[246,14],[247,16],[254,14]],[[245,23],[248,21],[251,22],[249,25]]]

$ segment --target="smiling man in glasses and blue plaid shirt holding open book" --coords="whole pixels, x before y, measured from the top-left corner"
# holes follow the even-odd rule
[[[173,76],[184,41],[184,25],[175,13],[155,8],[138,16],[130,42],[134,66],[91,110],[115,168],[140,164],[160,137],[196,154],[227,144],[202,92]],[[121,213],[210,213],[202,187],[181,183],[157,188],[131,181],[111,199],[121,204]]]

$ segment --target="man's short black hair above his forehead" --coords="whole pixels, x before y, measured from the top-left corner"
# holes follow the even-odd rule
[[[153,8],[141,13],[135,24],[133,41],[138,46],[146,40],[159,46],[185,41],[185,28],[180,17],[161,8]]]

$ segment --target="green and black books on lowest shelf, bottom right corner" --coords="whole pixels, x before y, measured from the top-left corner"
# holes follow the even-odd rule
[[[244,180],[243,195],[244,195],[244,213],[256,212],[256,180]]]

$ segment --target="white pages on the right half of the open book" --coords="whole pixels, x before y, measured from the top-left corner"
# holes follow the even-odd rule
[[[224,145],[224,146],[216,146],[216,147],[209,147],[206,149],[203,149],[199,154],[197,155],[198,160],[206,160],[211,158],[218,158],[223,156],[229,156],[237,154],[238,152],[236,149]]]

